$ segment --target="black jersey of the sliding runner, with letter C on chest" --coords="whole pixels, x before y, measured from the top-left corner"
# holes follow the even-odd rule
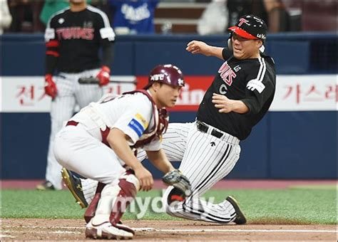
[[[269,109],[275,95],[275,62],[269,56],[237,60],[223,50],[225,60],[208,88],[198,109],[197,119],[219,130],[245,140],[252,127]],[[220,113],[212,103],[212,93],[225,95],[232,100],[242,100],[249,112]]]

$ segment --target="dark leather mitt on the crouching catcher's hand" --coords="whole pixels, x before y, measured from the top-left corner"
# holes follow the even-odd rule
[[[165,174],[162,181],[168,186],[174,186],[176,189],[182,191],[182,194],[185,196],[191,195],[190,181],[178,169],[174,169],[173,171]]]

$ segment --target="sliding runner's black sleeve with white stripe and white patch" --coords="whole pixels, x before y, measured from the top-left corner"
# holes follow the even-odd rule
[[[261,66],[258,75],[256,72],[255,75],[248,75],[247,77],[245,98],[241,100],[249,108],[247,113],[257,114],[260,112],[265,102],[275,92],[275,85],[272,82],[275,77],[266,72],[264,59],[262,59]]]

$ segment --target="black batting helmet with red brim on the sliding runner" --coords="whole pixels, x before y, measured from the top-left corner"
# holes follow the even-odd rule
[[[255,15],[245,15],[240,17],[235,26],[228,28],[243,38],[261,39],[264,41],[267,38],[266,23]]]

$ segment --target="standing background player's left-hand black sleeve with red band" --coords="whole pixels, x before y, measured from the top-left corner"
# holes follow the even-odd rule
[[[56,64],[58,61],[59,41],[55,33],[53,18],[49,19],[46,31],[45,31],[45,42],[46,42],[46,70],[45,74],[53,74]]]

